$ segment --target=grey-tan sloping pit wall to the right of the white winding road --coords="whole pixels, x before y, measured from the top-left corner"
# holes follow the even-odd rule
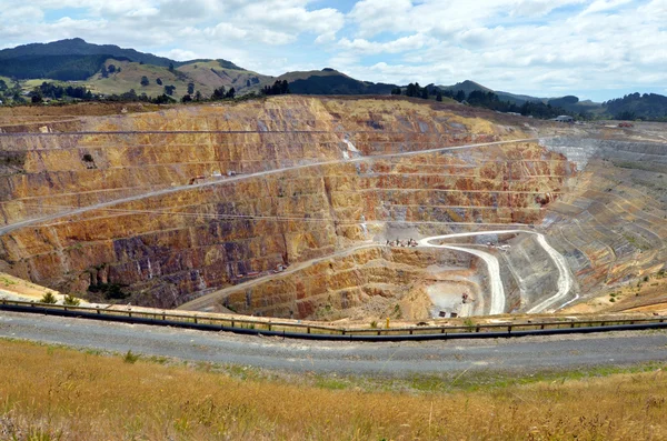
[[[583,294],[641,281],[667,260],[667,143],[558,138],[551,151],[585,159],[545,225]]]

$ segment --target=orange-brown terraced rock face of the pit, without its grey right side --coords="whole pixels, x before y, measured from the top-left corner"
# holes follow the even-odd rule
[[[386,222],[539,222],[575,174],[537,142],[396,156],[525,137],[399,100],[279,97],[61,124],[0,134],[14,158],[0,177],[4,224],[44,218],[0,237],[0,269],[161,308],[370,241]],[[407,254],[362,254],[361,267],[392,265],[278,279],[279,291],[235,293],[228,304],[316,317],[331,293],[331,308],[354,309],[411,292],[405,284],[420,270],[401,269]]]

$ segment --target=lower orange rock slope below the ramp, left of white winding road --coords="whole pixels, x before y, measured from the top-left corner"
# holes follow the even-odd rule
[[[426,319],[430,301],[424,288],[430,265],[468,268],[470,258],[439,250],[367,247],[248,288],[228,288],[211,294],[209,305],[216,311],[312,320]]]

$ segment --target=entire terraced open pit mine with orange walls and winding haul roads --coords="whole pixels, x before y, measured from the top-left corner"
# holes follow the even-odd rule
[[[667,310],[665,124],[405,98],[0,116],[1,272],[297,320]]]

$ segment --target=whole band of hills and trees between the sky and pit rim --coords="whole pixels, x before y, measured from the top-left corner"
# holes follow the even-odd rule
[[[536,118],[571,114],[581,119],[667,120],[667,97],[655,93],[631,93],[599,104],[579,101],[571,94],[539,98],[495,91],[470,80],[425,87],[417,82],[402,87],[374,83],[331,68],[271,77],[228,60],[177,61],[115,44],[88,43],[80,38],[0,50],[0,98],[7,103],[32,99],[187,102],[282,93],[405,94],[437,101],[451,99]],[[77,84],[70,84],[72,81]]]

